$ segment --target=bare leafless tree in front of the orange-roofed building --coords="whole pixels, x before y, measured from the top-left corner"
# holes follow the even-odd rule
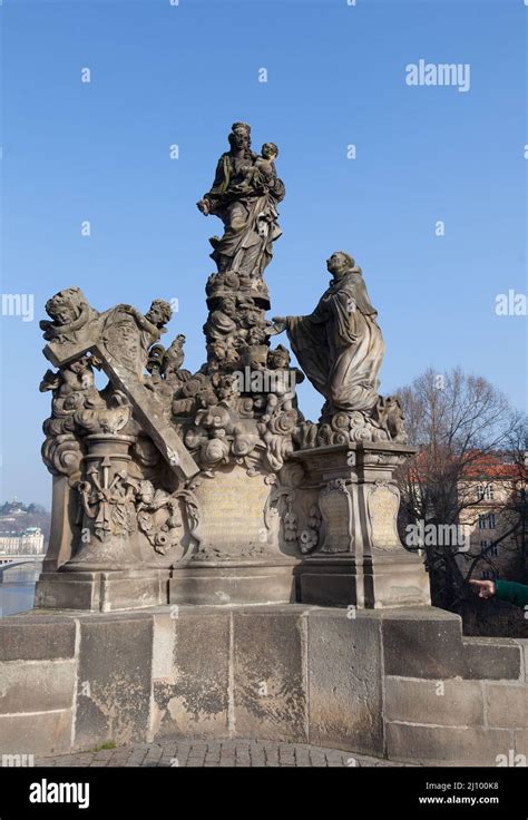
[[[399,471],[402,540],[408,548],[417,548],[407,537],[412,526],[422,523],[438,534],[446,526],[460,531],[461,518],[467,525],[477,520],[477,487],[482,485],[486,460],[493,458],[496,463],[497,452],[511,447],[520,419],[490,382],[459,368],[448,373],[429,369],[398,392],[410,443],[419,448],[418,456]],[[518,528],[519,517],[514,518],[512,527]],[[432,537],[420,546],[430,573],[432,603],[458,611],[468,595],[466,540],[446,543]]]

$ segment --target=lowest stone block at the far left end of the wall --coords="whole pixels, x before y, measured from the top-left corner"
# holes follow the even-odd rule
[[[72,710],[0,715],[0,754],[50,754],[70,749]]]

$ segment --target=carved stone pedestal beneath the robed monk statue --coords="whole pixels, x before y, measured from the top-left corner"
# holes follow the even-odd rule
[[[321,514],[317,546],[296,568],[297,601],[382,608],[429,605],[422,560],[401,545],[393,474],[413,448],[398,443],[320,447],[292,458]]]

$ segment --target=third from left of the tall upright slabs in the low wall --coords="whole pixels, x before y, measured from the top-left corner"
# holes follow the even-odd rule
[[[238,736],[307,740],[303,607],[233,613],[233,716]]]

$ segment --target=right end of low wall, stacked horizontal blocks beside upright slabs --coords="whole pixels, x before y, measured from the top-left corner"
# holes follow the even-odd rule
[[[404,614],[385,623],[390,759],[497,765],[526,758],[528,641],[460,637],[459,628],[448,613],[437,625]]]

